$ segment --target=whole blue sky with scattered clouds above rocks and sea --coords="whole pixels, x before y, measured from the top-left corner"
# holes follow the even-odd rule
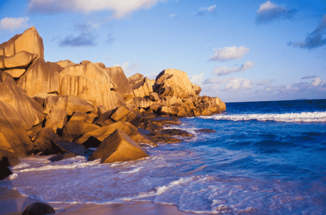
[[[326,0],[2,0],[0,43],[34,26],[45,61],[187,72],[223,102],[326,99]]]

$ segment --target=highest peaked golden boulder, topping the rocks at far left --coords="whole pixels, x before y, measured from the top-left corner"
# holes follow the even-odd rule
[[[23,34],[15,35],[7,42],[0,44],[0,55],[9,57],[21,51],[37,54],[38,58],[44,58],[43,40],[36,28],[31,27]]]

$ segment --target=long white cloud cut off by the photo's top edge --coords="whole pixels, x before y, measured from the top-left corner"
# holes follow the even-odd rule
[[[81,11],[90,13],[112,10],[113,18],[123,18],[138,9],[148,9],[164,0],[29,0],[31,12],[58,13],[62,11]]]

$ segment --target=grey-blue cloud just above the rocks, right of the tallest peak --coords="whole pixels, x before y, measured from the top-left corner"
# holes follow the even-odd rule
[[[61,47],[96,46],[96,36],[91,33],[81,33],[79,36],[73,34],[66,36],[60,43]]]

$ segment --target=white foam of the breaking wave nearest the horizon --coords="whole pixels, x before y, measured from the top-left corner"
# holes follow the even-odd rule
[[[217,114],[200,116],[204,119],[231,120],[231,121],[276,121],[276,122],[326,122],[326,111],[301,113],[256,113],[256,114]]]

